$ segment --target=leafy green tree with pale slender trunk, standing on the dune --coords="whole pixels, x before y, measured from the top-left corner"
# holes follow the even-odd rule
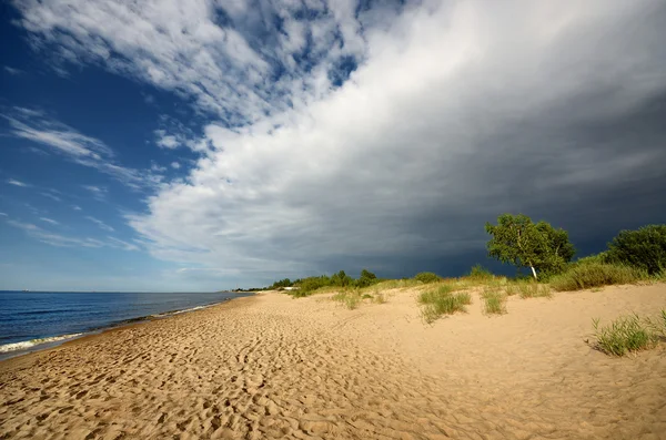
[[[502,263],[529,267],[534,279],[537,272],[553,275],[562,272],[575,254],[564,229],[555,229],[546,222],[534,224],[523,214],[502,214],[497,225],[486,223],[492,235],[487,243],[488,255]]]

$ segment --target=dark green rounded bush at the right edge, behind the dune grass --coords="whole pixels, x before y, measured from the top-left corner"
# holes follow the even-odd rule
[[[649,275],[666,270],[666,225],[622,231],[608,243],[606,258],[610,263],[638,267]]]

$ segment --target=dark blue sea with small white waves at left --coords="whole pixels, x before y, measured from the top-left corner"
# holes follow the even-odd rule
[[[111,327],[198,310],[248,295],[0,291],[0,360]]]

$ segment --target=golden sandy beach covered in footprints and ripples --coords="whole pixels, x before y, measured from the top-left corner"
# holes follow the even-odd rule
[[[269,293],[0,362],[0,438],[666,439],[666,344],[585,344],[592,317],[666,307],[666,285],[492,318],[474,297],[433,326],[415,295]]]

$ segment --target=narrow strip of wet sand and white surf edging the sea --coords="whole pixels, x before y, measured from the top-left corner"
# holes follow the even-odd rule
[[[234,299],[249,298],[249,297],[252,297],[253,295],[256,295],[256,294],[244,294],[243,293],[242,296],[239,295],[236,297],[224,298],[221,301],[212,303],[212,304],[208,304],[208,305],[195,306],[195,307],[185,308],[185,309],[168,310],[168,311],[162,311],[159,314],[138,316],[135,318],[128,318],[128,319],[123,319],[121,321],[114,321],[114,323],[110,323],[109,325],[95,327],[95,328],[92,328],[90,330],[85,330],[85,331],[82,331],[79,334],[56,335],[56,336],[47,336],[47,337],[42,337],[42,338],[34,338],[34,339],[17,341],[17,342],[8,342],[8,344],[4,344],[3,346],[11,346],[14,344],[30,344],[36,340],[44,340],[43,342],[29,346],[26,349],[19,348],[16,350],[0,351],[0,364],[8,361],[10,359],[16,359],[19,357],[24,357],[28,355],[33,355],[33,354],[39,354],[42,351],[56,349],[56,348],[62,347],[67,344],[71,344],[71,342],[74,342],[77,340],[84,339],[88,337],[99,336],[99,335],[102,335],[102,334],[105,334],[108,331],[112,331],[115,329],[121,329],[121,328],[142,325],[142,324],[149,324],[154,320],[168,319],[168,318],[175,317],[175,316],[183,315],[183,314],[192,314],[192,313],[195,313],[199,310],[203,310],[206,308],[216,307],[216,306],[226,304]]]

